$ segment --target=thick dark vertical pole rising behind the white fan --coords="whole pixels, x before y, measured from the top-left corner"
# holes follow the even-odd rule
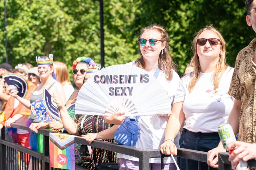
[[[101,56],[101,67],[104,67],[104,28],[103,28],[103,0],[99,0],[100,2],[100,56]]]

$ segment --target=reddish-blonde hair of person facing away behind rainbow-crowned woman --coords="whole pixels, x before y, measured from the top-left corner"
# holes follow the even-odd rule
[[[68,69],[67,66],[60,61],[53,61],[53,64],[56,65],[56,78],[58,79],[59,83],[64,86],[66,82],[71,84],[69,77],[68,77]]]

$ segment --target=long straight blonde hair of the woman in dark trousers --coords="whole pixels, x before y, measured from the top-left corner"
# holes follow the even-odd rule
[[[191,48],[192,48],[192,50],[194,50],[194,55],[193,55],[190,63],[194,67],[194,72],[191,74],[191,80],[188,85],[188,90],[190,92],[194,88],[195,84],[197,83],[197,81],[200,78],[200,63],[199,63],[199,58],[197,55],[197,39],[198,39],[199,35],[206,30],[210,30],[210,31],[214,32],[215,34],[217,34],[219,37],[220,44],[221,44],[221,53],[219,55],[219,61],[216,64],[216,70],[212,77],[214,90],[216,90],[219,87],[219,80],[220,80],[221,76],[223,75],[223,73],[225,72],[225,70],[227,69],[226,42],[225,42],[224,38],[222,37],[221,33],[216,28],[214,28],[212,25],[207,25],[205,28],[199,30],[195,34],[195,38],[193,39],[193,41],[191,43]]]

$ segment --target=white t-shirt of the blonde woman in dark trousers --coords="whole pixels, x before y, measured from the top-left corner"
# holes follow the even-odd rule
[[[192,132],[218,132],[218,126],[227,122],[234,104],[234,99],[228,94],[233,71],[234,68],[227,68],[216,90],[213,88],[213,72],[201,73],[191,92],[188,91],[191,73],[183,77],[174,103],[184,101],[184,128]]]

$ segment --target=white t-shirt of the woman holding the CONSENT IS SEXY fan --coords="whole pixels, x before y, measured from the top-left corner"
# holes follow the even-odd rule
[[[128,63],[131,65],[132,63]],[[149,72],[149,74],[152,74]],[[180,77],[173,70],[173,78],[171,81],[166,80],[166,75],[163,71],[160,71],[157,80],[161,83],[161,85],[165,88],[168,93],[168,96],[171,100],[170,104],[173,105],[174,95],[176,94],[176,89],[178,88]],[[141,116],[139,118],[139,128],[140,128],[140,136],[134,147],[141,149],[160,149],[160,145],[164,142],[165,137],[165,128],[167,125],[168,118],[166,116],[157,116],[157,115],[149,115],[149,116]],[[174,142],[177,147],[179,147],[179,138],[180,135],[176,136]],[[133,156],[128,156],[124,154],[117,153],[118,158],[129,159],[133,161],[139,161],[138,158]],[[161,163],[160,158],[150,158],[150,163]],[[165,157],[164,163],[174,163],[171,157]]]

